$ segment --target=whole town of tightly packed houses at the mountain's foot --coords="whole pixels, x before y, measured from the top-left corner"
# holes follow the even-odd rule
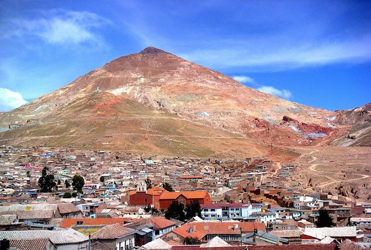
[[[371,204],[285,186],[280,165],[2,146],[1,249],[368,248]]]

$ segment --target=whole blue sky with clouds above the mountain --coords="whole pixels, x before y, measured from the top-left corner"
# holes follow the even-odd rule
[[[327,110],[371,102],[370,1],[2,1],[0,111],[153,46]]]

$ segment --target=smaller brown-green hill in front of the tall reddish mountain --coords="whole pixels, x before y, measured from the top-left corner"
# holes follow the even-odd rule
[[[269,145],[213,129],[108,92],[92,93],[58,112],[0,133],[5,144],[95,148],[173,156],[267,155]],[[293,153],[275,149],[292,157]]]

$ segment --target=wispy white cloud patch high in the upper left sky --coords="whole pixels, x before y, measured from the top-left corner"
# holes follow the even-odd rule
[[[12,19],[3,27],[3,39],[37,37],[53,45],[102,45],[98,29],[110,21],[90,12],[51,10],[37,19]]]

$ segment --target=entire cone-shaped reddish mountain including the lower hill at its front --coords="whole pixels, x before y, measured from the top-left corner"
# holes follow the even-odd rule
[[[112,102],[118,103],[111,105]],[[130,112],[124,107],[130,107]],[[97,122],[95,118],[104,113],[104,119]],[[153,123],[159,114],[166,117],[166,123]],[[136,119],[130,122],[124,118],[133,115]],[[264,154],[271,143],[288,146],[330,143],[350,129],[351,125],[341,122],[341,115],[348,114],[315,109],[259,92],[219,72],[148,47],[140,53],[117,58],[18,109],[0,114],[1,127],[24,124],[22,128],[0,133],[0,143],[9,143],[13,138],[20,138],[24,143],[30,136],[44,136],[43,140],[38,139],[40,143],[73,142],[75,146],[82,146],[91,141],[95,147],[119,148],[123,142],[116,144],[119,140],[112,139],[115,142],[109,144],[96,136],[136,131],[138,136],[157,133],[166,137],[180,130],[183,138],[188,138],[187,143],[192,144],[190,148],[194,147],[184,152],[204,149],[206,152],[202,155],[220,154],[225,151],[224,143],[224,148],[236,148],[236,141],[227,143],[227,138],[238,138],[243,141],[242,148],[257,144],[264,149],[261,151]],[[122,119],[126,123],[121,124]],[[84,136],[79,141],[81,134]],[[212,134],[217,136],[213,138]],[[200,135],[206,136],[203,140],[191,141],[190,136]],[[125,143],[124,148],[140,149],[136,140]],[[140,143],[148,144],[142,151],[153,147],[152,151],[169,152],[166,143]],[[218,149],[213,150],[212,145]],[[180,149],[174,149],[169,153],[179,152]]]

